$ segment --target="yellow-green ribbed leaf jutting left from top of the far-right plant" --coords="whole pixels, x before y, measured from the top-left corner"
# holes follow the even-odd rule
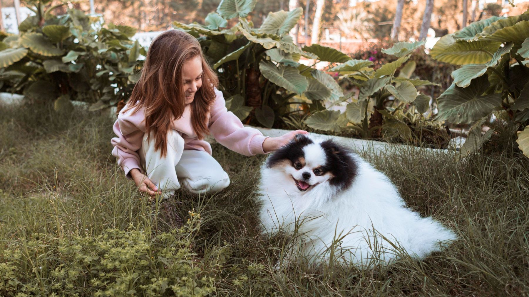
[[[437,61],[456,65],[482,64],[492,59],[492,53],[499,49],[497,41],[456,41],[452,34],[439,39],[430,51]]]

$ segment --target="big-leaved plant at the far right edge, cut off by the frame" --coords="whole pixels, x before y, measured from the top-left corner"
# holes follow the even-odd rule
[[[430,54],[461,65],[437,99],[437,118],[472,124],[462,154],[477,150],[501,124],[517,131],[518,147],[529,156],[529,13],[472,23],[441,37]],[[484,124],[490,129],[482,133]]]

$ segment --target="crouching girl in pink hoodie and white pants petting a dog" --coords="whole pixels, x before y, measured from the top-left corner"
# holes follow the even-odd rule
[[[208,133],[246,156],[274,151],[296,134],[307,133],[297,130],[271,138],[244,127],[227,111],[217,85],[195,37],[169,30],[152,41],[112,138],[112,155],[140,191],[166,198],[180,187],[193,193],[227,187],[230,178],[203,140]]]

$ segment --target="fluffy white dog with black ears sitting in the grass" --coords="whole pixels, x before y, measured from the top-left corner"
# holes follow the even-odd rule
[[[372,266],[407,253],[423,258],[455,234],[406,208],[380,171],[332,140],[298,135],[261,167],[258,189],[265,232],[300,235],[297,253],[311,263]]]

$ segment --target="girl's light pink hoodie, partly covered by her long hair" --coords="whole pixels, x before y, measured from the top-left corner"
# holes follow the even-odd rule
[[[209,132],[221,145],[245,156],[266,154],[263,151],[263,141],[266,138],[262,133],[250,127],[244,127],[241,120],[231,111],[227,111],[226,102],[222,92],[215,89],[215,101],[209,113]],[[118,114],[114,123],[114,133],[117,137],[112,138],[114,146],[112,155],[117,158],[117,165],[125,171],[125,176],[131,178],[130,170],[140,167],[141,147],[145,135],[145,115],[143,109],[136,111],[134,108]],[[211,155],[211,145],[205,140],[199,140],[193,126],[191,126],[190,106],[186,106],[184,114],[172,122],[171,128],[180,132],[184,138],[184,149],[195,149],[206,151]]]

